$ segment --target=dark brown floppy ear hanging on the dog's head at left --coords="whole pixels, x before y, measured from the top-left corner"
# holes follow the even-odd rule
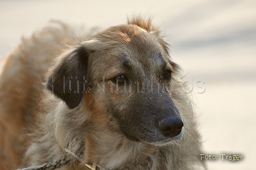
[[[70,109],[77,107],[85,94],[89,70],[89,51],[85,46],[71,49],[57,58],[47,74],[47,89],[64,100]]]

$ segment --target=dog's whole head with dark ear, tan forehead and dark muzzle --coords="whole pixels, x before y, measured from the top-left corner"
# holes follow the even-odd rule
[[[143,20],[111,27],[62,54],[47,88],[69,109],[100,112],[99,121],[131,141],[165,145],[180,139],[183,127],[171,98],[178,66],[167,51],[158,29]]]

